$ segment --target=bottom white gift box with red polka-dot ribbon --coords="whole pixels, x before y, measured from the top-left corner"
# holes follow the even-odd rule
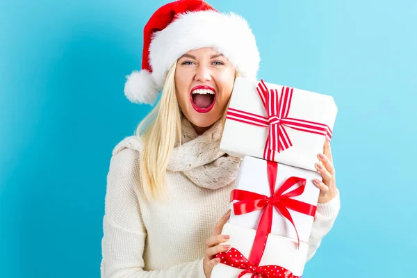
[[[220,263],[214,266],[211,272],[212,278],[250,278],[253,277],[252,275],[268,278],[302,276],[309,250],[306,243],[300,243],[297,248],[295,240],[269,234],[261,261],[252,263],[249,258],[256,234],[254,229],[226,223],[222,234],[230,235],[230,239],[222,244],[230,244],[231,249],[218,254]]]

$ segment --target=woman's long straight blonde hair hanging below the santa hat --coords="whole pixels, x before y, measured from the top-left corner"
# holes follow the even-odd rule
[[[181,145],[181,108],[177,101],[174,79],[176,68],[177,62],[167,72],[160,101],[136,129],[136,136],[142,143],[140,179],[149,201],[161,201],[167,197],[167,166],[176,142]],[[236,76],[239,76],[237,71]],[[222,128],[226,121],[227,107],[222,115]]]

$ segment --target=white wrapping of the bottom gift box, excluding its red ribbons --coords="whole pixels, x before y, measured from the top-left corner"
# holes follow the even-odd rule
[[[242,253],[246,259],[249,259],[256,230],[226,223],[222,229],[222,234],[230,235],[230,239],[222,244],[230,244],[231,247],[236,248]],[[295,240],[269,234],[259,266],[276,265],[277,268],[280,268],[280,271],[283,271],[281,268],[285,268],[286,270],[291,271],[295,276],[302,276],[308,250],[309,246],[306,243],[300,243],[300,247],[297,250],[297,243]],[[214,266],[211,277],[236,278],[242,271],[243,269],[234,268],[224,263],[218,263]],[[243,275],[244,278],[250,278],[251,276],[252,274]]]

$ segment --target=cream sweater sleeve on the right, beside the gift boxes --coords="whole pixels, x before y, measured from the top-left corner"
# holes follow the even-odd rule
[[[340,195],[337,195],[332,201],[325,204],[318,204],[316,215],[314,216],[313,227],[311,228],[311,235],[309,238],[309,251],[306,261],[309,261],[321,244],[322,238],[332,229],[334,221],[341,208]]]

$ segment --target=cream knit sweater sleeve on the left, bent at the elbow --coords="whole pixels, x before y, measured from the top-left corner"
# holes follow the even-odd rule
[[[147,231],[135,186],[140,183],[138,152],[123,149],[111,158],[107,175],[101,239],[101,278],[202,277],[203,259],[145,271]]]

